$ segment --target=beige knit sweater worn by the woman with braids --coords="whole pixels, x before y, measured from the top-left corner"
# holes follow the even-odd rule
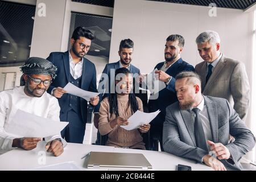
[[[121,96],[117,95],[118,98],[118,112],[119,117],[128,119],[131,115],[131,107],[128,105],[129,95]],[[139,110],[143,111],[143,105],[140,98],[136,97],[138,101]],[[101,101],[100,106],[100,119],[98,123],[98,130],[101,135],[108,134],[107,146],[114,147],[129,147],[129,148],[141,148],[145,149],[143,138],[138,129],[125,130],[122,127],[116,125],[114,129],[110,126],[110,122],[115,119],[115,114],[110,117],[109,113],[109,97],[106,97]]]

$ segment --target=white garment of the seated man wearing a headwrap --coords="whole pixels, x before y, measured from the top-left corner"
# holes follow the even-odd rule
[[[7,133],[4,129],[5,123],[10,123],[16,111],[20,109],[27,113],[35,114],[40,117],[49,118],[53,121],[60,121],[60,106],[57,99],[47,92],[41,97],[30,97],[24,93],[24,86],[17,86],[11,90],[0,92],[0,154],[12,150],[15,135]],[[51,125],[49,125],[51,127]],[[46,137],[46,142],[61,138],[60,134]],[[61,139],[63,147],[67,145]]]

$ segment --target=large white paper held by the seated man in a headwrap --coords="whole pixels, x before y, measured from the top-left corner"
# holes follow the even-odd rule
[[[52,121],[22,110],[17,110],[10,123],[5,124],[7,133],[19,137],[44,138],[60,134],[68,122]]]

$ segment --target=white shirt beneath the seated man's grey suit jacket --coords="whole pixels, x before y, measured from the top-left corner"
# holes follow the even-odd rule
[[[200,110],[199,115],[201,117],[203,129],[204,129],[205,140],[212,141],[212,130],[210,130],[209,115],[208,115],[207,107],[204,105],[203,96],[202,96],[202,101],[196,107]],[[192,113],[193,121],[195,121],[196,114],[193,111],[191,111],[191,113]],[[208,144],[207,144],[207,147],[208,147],[208,151],[210,151],[210,146]]]

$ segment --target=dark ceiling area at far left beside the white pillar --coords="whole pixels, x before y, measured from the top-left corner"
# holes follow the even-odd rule
[[[0,1],[0,67],[21,65],[30,55],[35,6]]]

